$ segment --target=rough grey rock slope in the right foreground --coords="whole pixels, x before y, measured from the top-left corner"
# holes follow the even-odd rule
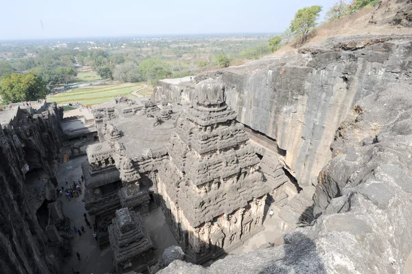
[[[230,256],[209,269],[174,263],[165,273],[400,273],[412,249],[411,93],[409,84],[389,84],[356,103],[362,111],[341,125],[337,156],[319,175],[320,216],[295,230],[304,235],[295,246]],[[369,137],[374,141],[362,141]]]

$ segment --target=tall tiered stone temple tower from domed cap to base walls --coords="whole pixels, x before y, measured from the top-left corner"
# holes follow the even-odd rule
[[[262,228],[271,187],[248,139],[225,103],[222,84],[196,84],[192,106],[176,119],[170,161],[157,180],[165,216],[192,262],[215,258]]]

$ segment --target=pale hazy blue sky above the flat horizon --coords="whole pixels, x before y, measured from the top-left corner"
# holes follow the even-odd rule
[[[0,40],[283,32],[299,8],[335,0],[1,0]],[[43,26],[42,26],[43,23]]]

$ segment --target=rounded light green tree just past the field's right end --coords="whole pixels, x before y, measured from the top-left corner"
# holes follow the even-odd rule
[[[144,80],[155,85],[157,80],[172,76],[170,67],[159,59],[146,59],[139,65],[139,71]]]

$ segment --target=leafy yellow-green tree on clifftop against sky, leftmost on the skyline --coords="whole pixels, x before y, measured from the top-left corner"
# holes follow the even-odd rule
[[[300,42],[305,43],[308,40],[310,31],[316,27],[316,21],[319,19],[321,11],[322,7],[320,5],[312,5],[298,10],[295,18],[290,22],[290,33],[299,36]]]

